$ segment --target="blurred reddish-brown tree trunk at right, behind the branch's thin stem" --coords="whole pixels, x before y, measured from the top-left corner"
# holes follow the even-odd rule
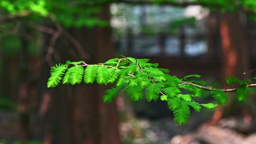
[[[229,88],[225,82],[227,76],[236,76],[242,80],[249,78],[249,56],[244,27],[241,25],[238,13],[220,15],[220,37],[223,64],[223,88]],[[244,74],[246,72],[246,74]],[[229,94],[230,95],[230,94]],[[229,98],[225,115],[232,113],[233,101]],[[217,123],[223,116],[223,107],[216,109],[211,122]]]

